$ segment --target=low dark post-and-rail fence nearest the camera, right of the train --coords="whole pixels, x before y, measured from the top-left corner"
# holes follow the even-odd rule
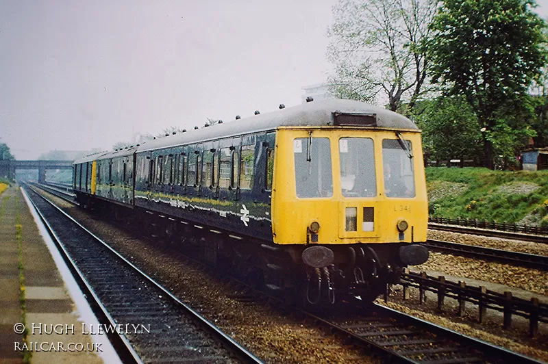
[[[490,291],[484,286],[469,286],[465,282],[447,281],[445,276],[427,275],[425,272],[415,273],[408,269],[401,274],[401,283],[403,286],[403,299],[410,298],[410,288],[419,289],[419,302],[426,300],[426,292],[430,291],[437,296],[438,310],[443,311],[445,298],[453,298],[458,301],[458,313],[460,317],[464,316],[466,302],[478,307],[478,321],[483,324],[486,319],[487,309],[503,313],[503,328],[508,329],[512,325],[512,316],[521,316],[529,320],[529,332],[531,337],[538,334],[538,324],[543,322],[548,324],[548,304],[540,303],[538,298],[533,297],[530,300],[524,300],[512,296],[512,292],[505,291],[499,293]],[[387,287],[384,300],[388,302],[390,289]]]

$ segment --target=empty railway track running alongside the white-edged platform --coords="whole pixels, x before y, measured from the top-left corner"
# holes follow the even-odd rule
[[[260,363],[46,198],[25,188],[126,362]],[[116,326],[122,325],[122,326]]]

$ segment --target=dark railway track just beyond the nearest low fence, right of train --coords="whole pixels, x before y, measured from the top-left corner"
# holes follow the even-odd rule
[[[548,257],[543,255],[527,254],[524,252],[512,252],[510,250],[500,250],[493,248],[484,248],[483,246],[458,244],[453,242],[444,242],[442,240],[428,239],[425,244],[430,250],[443,252],[474,259],[484,259],[487,261],[497,261],[499,263],[510,263],[548,271]]]

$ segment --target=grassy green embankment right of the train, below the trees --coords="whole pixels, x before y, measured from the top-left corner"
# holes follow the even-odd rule
[[[430,216],[548,227],[548,170],[426,168]]]

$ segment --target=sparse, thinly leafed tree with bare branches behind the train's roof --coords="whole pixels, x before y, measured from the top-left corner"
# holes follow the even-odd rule
[[[424,92],[429,23],[434,0],[340,0],[327,55],[337,96],[375,102],[383,93],[392,111],[410,114]],[[408,101],[402,110],[402,100]]]

